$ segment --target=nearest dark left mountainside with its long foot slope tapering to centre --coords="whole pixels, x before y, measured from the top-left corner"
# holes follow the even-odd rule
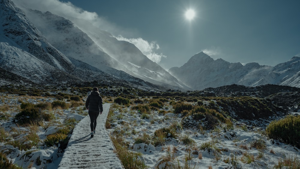
[[[107,72],[104,72],[85,62],[67,57],[49,43],[44,34],[28,20],[23,11],[15,7],[13,2],[1,0],[0,9],[2,25],[0,72],[5,74],[1,76],[1,85],[9,83],[51,85],[97,80],[144,89],[164,89],[123,71],[109,67]],[[112,58],[107,60],[111,61],[107,62],[107,65],[117,63]]]

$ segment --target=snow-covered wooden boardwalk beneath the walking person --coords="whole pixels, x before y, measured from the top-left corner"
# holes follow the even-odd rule
[[[58,169],[122,169],[121,161],[113,152],[113,143],[105,129],[109,109],[110,104],[103,104],[103,113],[98,116],[93,138],[90,137],[89,116],[75,126]]]

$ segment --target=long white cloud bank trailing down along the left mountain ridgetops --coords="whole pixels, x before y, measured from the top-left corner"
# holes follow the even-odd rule
[[[159,45],[155,42],[148,42],[142,38],[123,38],[121,35],[132,35],[130,32],[125,32],[124,29],[110,23],[104,17],[98,16],[95,12],[88,12],[82,8],[78,8],[71,2],[61,2],[58,0],[12,0],[20,8],[30,8],[41,12],[50,11],[52,14],[59,15],[73,23],[78,23],[80,20],[89,21],[94,26],[110,32],[111,34],[119,35],[118,40],[128,41],[134,44],[144,55],[146,55],[153,62],[159,63],[161,58],[166,58],[162,53],[158,54],[156,51]],[[79,19],[79,20],[78,20]],[[79,25],[77,25],[79,26]],[[120,35],[121,34],[121,35]]]

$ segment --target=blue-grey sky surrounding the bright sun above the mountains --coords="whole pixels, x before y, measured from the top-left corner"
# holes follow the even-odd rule
[[[27,1],[36,4],[32,8],[39,8],[40,1],[24,2]],[[148,53],[142,52],[152,55],[152,60],[166,69],[182,66],[201,51],[214,59],[271,66],[300,56],[300,1],[296,0],[43,2],[66,3],[78,13],[94,14],[104,21],[99,24],[101,29],[121,35],[121,39],[136,43],[146,41],[152,48]],[[55,13],[52,7],[48,4],[44,8]],[[196,13],[190,21],[184,17],[189,8]]]

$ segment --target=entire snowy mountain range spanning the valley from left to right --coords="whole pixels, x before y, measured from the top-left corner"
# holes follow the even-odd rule
[[[1,0],[0,66],[22,82],[106,81],[145,89],[201,90],[231,84],[300,87],[300,58],[274,67],[214,60],[201,52],[166,71],[134,44],[119,41],[86,20],[17,8]],[[86,26],[88,25],[88,26]],[[14,81],[3,77],[3,83]]]

